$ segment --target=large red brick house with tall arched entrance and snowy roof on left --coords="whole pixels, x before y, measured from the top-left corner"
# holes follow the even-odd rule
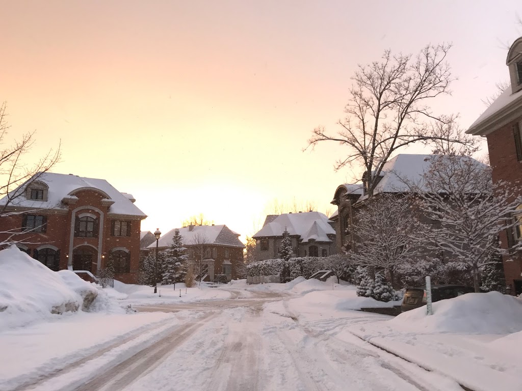
[[[8,201],[12,194],[18,194]],[[2,231],[13,230],[17,246],[52,270],[93,274],[111,259],[115,279],[136,283],[141,220],[147,216],[104,179],[43,173],[0,200]],[[0,242],[9,234],[0,234]]]

